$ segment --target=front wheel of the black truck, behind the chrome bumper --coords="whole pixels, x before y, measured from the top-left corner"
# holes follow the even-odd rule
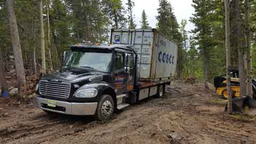
[[[115,105],[114,105],[113,98],[108,94],[104,94],[102,95],[98,103],[94,118],[97,119],[98,121],[106,121],[110,119],[110,117],[114,113],[114,110],[115,110]]]

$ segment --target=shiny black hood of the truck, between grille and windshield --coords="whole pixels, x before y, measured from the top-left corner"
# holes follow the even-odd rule
[[[59,72],[46,74],[42,77],[42,79],[47,79],[49,81],[53,80],[53,81],[66,81],[71,83],[77,83],[77,82],[89,80],[92,77],[97,77],[97,76],[103,77],[104,75],[106,75],[106,73],[101,73],[98,71],[66,69]]]

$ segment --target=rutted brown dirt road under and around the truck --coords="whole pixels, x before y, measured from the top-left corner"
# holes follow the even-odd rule
[[[226,115],[225,101],[196,85],[169,86],[108,122],[0,102],[0,143],[256,143],[255,118]]]

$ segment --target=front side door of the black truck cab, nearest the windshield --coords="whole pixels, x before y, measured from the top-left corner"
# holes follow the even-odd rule
[[[115,89],[117,94],[126,92],[127,73],[125,72],[125,53],[115,53]]]

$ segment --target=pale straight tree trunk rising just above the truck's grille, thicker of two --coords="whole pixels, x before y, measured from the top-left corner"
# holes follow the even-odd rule
[[[41,55],[42,55],[42,73],[46,73],[45,67],[45,46],[44,46],[44,19],[43,19],[43,0],[39,1],[40,13],[40,42],[41,42]]]

